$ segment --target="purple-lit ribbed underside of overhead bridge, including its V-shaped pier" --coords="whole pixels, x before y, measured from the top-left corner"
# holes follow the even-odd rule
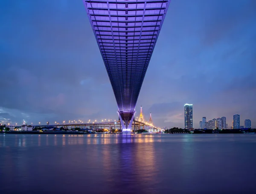
[[[124,132],[170,0],[83,0],[118,106]]]

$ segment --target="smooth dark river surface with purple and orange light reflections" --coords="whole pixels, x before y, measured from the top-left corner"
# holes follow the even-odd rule
[[[255,148],[244,134],[0,134],[0,193],[246,193]]]

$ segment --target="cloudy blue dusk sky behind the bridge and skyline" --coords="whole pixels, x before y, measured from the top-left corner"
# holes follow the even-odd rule
[[[256,127],[256,1],[172,0],[137,101],[154,125]],[[0,0],[0,123],[118,119],[82,0]]]

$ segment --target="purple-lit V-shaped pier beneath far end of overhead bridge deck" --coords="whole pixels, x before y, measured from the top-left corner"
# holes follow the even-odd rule
[[[123,133],[131,133],[132,122],[134,120],[135,112],[120,112],[118,111],[120,124],[122,125]]]

